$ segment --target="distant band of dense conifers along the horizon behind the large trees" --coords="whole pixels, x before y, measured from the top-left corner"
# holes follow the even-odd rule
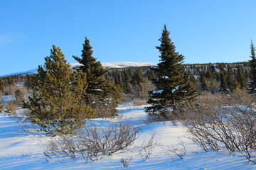
[[[183,65],[198,92],[230,93],[235,89],[248,89],[248,84],[252,81],[249,62]],[[151,79],[158,77],[151,67],[146,66],[106,69],[108,69],[108,73],[105,75],[105,79],[111,79],[126,99],[146,100],[148,91],[154,89]],[[13,94],[8,87],[14,86],[14,84],[25,83],[29,89],[31,77],[33,75],[29,74],[1,77],[0,89],[6,95]]]

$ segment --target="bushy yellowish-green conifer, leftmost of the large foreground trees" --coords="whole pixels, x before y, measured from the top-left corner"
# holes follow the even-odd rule
[[[44,68],[39,66],[38,74],[32,78],[33,96],[24,105],[31,111],[33,123],[42,130],[73,132],[94,113],[81,97],[87,87],[85,74],[71,69],[55,45],[45,60]]]

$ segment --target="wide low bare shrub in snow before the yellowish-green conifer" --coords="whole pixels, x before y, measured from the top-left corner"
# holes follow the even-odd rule
[[[110,128],[86,127],[75,136],[61,135],[51,140],[45,151],[50,157],[83,157],[85,161],[97,161],[104,155],[124,152],[139,136],[139,128],[129,123],[113,124]]]

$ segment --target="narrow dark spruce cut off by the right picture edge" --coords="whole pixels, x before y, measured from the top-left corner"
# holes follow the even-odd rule
[[[251,50],[251,59],[250,62],[250,67],[251,67],[251,77],[252,81],[250,83],[250,93],[255,93],[256,92],[256,56],[255,56],[255,46],[253,42],[251,41],[250,44],[250,50]]]

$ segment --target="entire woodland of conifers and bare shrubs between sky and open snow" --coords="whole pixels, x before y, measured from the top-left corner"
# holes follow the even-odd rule
[[[15,99],[1,102],[0,111],[15,115],[18,108],[26,108],[26,120],[47,135],[60,135],[48,145],[47,157],[80,155],[87,162],[128,148],[139,128],[129,123],[109,130],[87,128],[86,120],[114,117],[122,101],[149,103],[149,116],[180,121],[206,152],[240,152],[256,163],[253,42],[248,62],[183,64],[184,56],[176,52],[166,26],[159,41],[159,64],[121,69],[102,67],[87,38],[81,57],[73,56],[80,67],[70,68],[60,47],[53,45],[38,74],[1,77],[0,97]]]

